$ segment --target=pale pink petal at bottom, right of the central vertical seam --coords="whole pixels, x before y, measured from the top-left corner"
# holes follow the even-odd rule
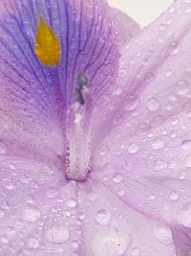
[[[167,226],[138,214],[101,183],[83,184],[78,198],[84,237],[80,256],[174,255]]]

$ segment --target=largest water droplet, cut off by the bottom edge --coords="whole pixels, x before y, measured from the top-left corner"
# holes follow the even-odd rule
[[[93,240],[94,256],[122,256],[132,243],[131,236],[116,228],[99,229]]]

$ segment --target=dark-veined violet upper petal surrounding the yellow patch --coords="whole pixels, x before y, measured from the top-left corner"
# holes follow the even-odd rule
[[[118,36],[110,8],[105,1],[89,0],[8,0],[1,5],[1,139],[15,140],[14,151],[30,147],[53,158],[63,152],[63,113],[74,100],[77,74],[89,78],[95,101],[115,82]],[[34,55],[40,15],[60,40],[56,67]]]

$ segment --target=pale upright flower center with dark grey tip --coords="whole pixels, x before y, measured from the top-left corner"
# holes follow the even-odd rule
[[[78,84],[76,102],[68,109],[65,122],[64,171],[68,179],[82,181],[91,172],[92,99],[84,75],[78,76]]]

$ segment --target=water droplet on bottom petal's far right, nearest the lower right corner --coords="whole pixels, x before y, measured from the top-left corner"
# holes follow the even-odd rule
[[[161,244],[173,244],[170,228],[157,226],[153,229],[153,234]]]

